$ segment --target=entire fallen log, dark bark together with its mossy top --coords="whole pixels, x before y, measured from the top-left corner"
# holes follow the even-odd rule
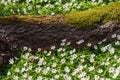
[[[0,17],[0,54],[14,56],[24,46],[33,51],[59,47],[64,38],[80,48],[110,39],[113,33],[120,34],[120,2],[64,15]],[[77,46],[80,39],[85,43]]]

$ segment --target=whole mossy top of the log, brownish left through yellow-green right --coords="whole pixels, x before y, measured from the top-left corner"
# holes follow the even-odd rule
[[[106,6],[100,6],[91,10],[74,12],[65,15],[46,15],[46,16],[12,16],[0,17],[1,25],[9,24],[70,24],[75,28],[95,28],[109,21],[120,21],[120,2],[110,3]],[[22,22],[22,23],[20,23]]]

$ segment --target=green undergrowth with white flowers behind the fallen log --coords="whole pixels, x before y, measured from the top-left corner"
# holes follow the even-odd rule
[[[0,0],[0,16],[66,14],[116,1],[119,0]]]

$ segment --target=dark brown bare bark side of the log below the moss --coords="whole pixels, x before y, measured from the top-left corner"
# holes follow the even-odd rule
[[[75,29],[73,25],[44,23],[19,23],[0,25],[0,65],[6,63],[24,46],[32,49],[50,49],[59,47],[62,39],[71,41],[72,46],[81,48],[88,43],[98,44],[103,39],[110,39],[112,34],[120,34],[120,22],[108,22],[94,29]],[[85,43],[77,45],[76,41],[84,39]]]

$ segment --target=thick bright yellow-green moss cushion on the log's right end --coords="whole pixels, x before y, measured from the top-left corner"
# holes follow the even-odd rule
[[[108,21],[120,21],[120,2],[111,3],[92,10],[66,14],[68,24],[76,28],[94,28]]]

